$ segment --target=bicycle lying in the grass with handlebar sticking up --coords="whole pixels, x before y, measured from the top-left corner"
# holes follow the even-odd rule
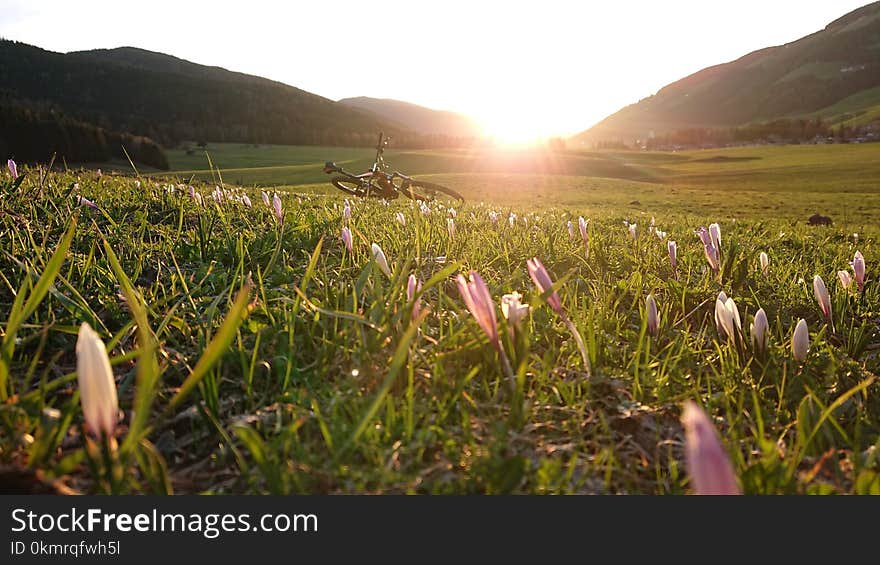
[[[369,171],[359,175],[349,173],[333,161],[324,163],[324,172],[337,173],[330,183],[351,196],[360,198],[384,198],[393,200],[400,194],[413,200],[440,200],[448,198],[464,202],[464,196],[451,188],[433,182],[416,180],[400,171],[388,172],[383,153],[388,146],[390,137],[379,132],[379,143],[376,145],[376,159]]]

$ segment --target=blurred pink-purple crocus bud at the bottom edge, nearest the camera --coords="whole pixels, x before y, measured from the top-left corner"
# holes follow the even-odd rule
[[[685,436],[685,463],[696,494],[742,494],[733,466],[712,421],[692,400],[681,416]]]

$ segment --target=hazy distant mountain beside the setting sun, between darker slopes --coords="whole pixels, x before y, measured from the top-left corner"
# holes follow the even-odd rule
[[[366,110],[383,116],[404,127],[426,135],[449,135],[453,137],[479,137],[480,127],[469,117],[455,112],[432,110],[400,100],[387,98],[343,98],[340,104]]]

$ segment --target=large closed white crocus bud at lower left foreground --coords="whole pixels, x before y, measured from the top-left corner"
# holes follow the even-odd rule
[[[89,431],[112,437],[119,418],[116,382],[104,343],[85,322],[80,326],[76,340],[76,377],[83,418]]]

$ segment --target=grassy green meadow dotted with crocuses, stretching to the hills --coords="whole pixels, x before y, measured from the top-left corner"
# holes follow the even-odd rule
[[[0,180],[0,470],[32,490],[684,494],[680,418],[694,400],[745,493],[880,494],[880,145],[388,151],[392,167],[468,201],[355,200],[347,221],[320,166],[359,172],[371,151],[208,150],[219,175],[181,151],[170,175]],[[806,225],[814,212],[834,224]],[[695,234],[712,222],[717,274]],[[862,291],[837,274],[852,274],[856,251]],[[527,272],[533,257],[589,370]],[[455,282],[470,271],[497,306],[512,378]],[[721,291],[742,340],[716,327]],[[498,306],[512,292],[530,306],[519,325]],[[764,352],[749,337],[759,308]],[[803,362],[791,349],[801,318]],[[115,447],[84,430],[83,322],[113,368]]]

